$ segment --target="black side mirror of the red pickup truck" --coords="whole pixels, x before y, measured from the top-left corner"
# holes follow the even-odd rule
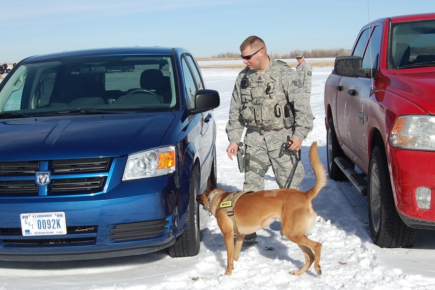
[[[360,56],[336,57],[334,73],[342,77],[372,78],[372,70],[362,68],[362,58]]]

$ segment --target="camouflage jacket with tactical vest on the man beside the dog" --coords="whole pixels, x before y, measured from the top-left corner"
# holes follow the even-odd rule
[[[313,119],[309,96],[304,96],[296,73],[284,62],[271,59],[264,74],[247,67],[239,73],[226,132],[230,142],[239,143],[246,128],[245,144],[255,147],[260,134],[269,138],[269,149],[278,149],[287,135],[305,139],[313,129]]]

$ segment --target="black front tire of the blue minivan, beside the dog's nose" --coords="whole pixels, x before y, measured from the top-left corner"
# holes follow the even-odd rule
[[[186,230],[177,237],[175,243],[168,248],[172,258],[192,257],[199,252],[199,203],[195,197],[199,191],[199,171],[195,166],[190,182],[189,205],[187,209]]]

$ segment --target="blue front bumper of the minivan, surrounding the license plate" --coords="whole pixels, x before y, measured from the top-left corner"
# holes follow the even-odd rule
[[[4,198],[0,260],[67,261],[154,252],[175,242],[180,227],[174,175],[119,183],[101,194]],[[23,236],[21,213],[63,211],[67,234]]]

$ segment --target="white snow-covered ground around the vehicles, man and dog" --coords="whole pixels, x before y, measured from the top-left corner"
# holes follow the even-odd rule
[[[332,67],[313,68],[311,106],[314,130],[303,143],[306,177],[302,190],[314,184],[308,147],[318,142],[326,166],[326,130],[323,92]],[[230,96],[239,70],[203,69],[209,89],[220,93],[215,111],[217,123],[218,186],[228,191],[243,187],[237,161],[226,156],[225,125]],[[277,188],[273,172],[266,188]],[[364,198],[355,197],[349,183],[328,181],[313,201],[317,211],[311,239],[322,242],[322,274],[313,267],[300,276],[289,271],[304,262],[299,247],[282,241],[280,223],[259,231],[258,243],[244,245],[231,276],[226,250],[216,219],[201,208],[201,250],[196,257],[173,259],[165,251],[98,261],[16,263],[0,261],[0,290],[167,290],[167,289],[435,289],[435,231],[420,231],[414,248],[382,249],[373,244],[367,230]],[[350,197],[353,196],[353,198]]]

